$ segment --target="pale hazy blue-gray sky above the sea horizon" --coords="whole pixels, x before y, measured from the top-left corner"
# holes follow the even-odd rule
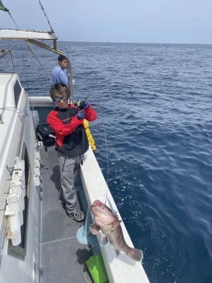
[[[38,0],[2,2],[19,28],[49,30]],[[212,0],[41,2],[59,40],[212,44]],[[4,11],[0,27],[16,28]]]

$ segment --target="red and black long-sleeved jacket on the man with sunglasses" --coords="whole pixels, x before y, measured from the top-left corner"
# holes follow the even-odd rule
[[[93,121],[97,114],[89,104],[88,109],[84,109],[86,120]],[[68,156],[78,156],[88,150],[88,137],[83,125],[83,120],[76,117],[77,110],[73,104],[68,109],[61,110],[54,108],[47,116],[49,126],[56,133],[57,143],[55,149]]]

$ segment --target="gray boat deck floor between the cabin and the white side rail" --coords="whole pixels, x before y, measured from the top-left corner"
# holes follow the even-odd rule
[[[57,202],[59,165],[54,146],[42,149],[41,283],[93,282],[86,268],[92,255],[88,245],[78,242],[76,233],[83,222],[66,215]],[[76,183],[76,190],[81,183]],[[86,281],[86,279],[88,281]]]

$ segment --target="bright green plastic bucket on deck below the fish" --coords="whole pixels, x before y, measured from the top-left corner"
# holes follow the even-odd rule
[[[101,253],[91,255],[86,261],[86,265],[94,283],[110,283]]]

